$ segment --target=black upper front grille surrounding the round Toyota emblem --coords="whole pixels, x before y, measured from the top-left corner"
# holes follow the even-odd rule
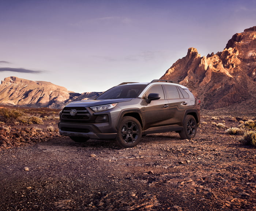
[[[75,116],[70,115],[70,111],[74,109],[76,110]],[[87,111],[85,107],[65,107],[62,112],[62,119],[64,121],[83,121],[88,120],[90,118],[90,113]]]

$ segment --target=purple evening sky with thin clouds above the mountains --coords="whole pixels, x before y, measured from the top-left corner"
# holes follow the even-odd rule
[[[159,79],[256,26],[256,0],[0,0],[0,80],[78,93]]]

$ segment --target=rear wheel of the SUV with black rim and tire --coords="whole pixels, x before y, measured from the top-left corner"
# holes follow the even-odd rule
[[[191,139],[195,137],[197,123],[195,117],[187,115],[183,121],[183,129],[179,132],[182,139]]]

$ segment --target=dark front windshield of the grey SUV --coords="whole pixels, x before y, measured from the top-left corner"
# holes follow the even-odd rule
[[[146,84],[115,86],[99,95],[96,99],[136,98],[146,86]]]

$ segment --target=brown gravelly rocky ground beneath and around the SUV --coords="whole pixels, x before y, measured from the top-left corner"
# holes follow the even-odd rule
[[[202,112],[193,140],[128,149],[60,137],[54,119],[1,125],[0,210],[256,210],[256,148],[225,133],[254,116],[217,114]]]

